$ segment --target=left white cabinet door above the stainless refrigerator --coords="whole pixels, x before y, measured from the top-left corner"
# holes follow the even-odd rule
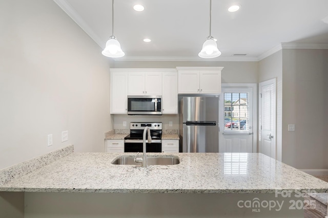
[[[199,70],[179,70],[178,92],[199,93]]]

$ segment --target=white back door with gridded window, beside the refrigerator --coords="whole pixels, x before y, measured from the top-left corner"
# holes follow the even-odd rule
[[[238,84],[237,84],[238,85]],[[223,87],[219,105],[219,152],[256,152],[256,123],[253,98],[256,84],[251,87]],[[255,101],[255,102],[254,102]],[[254,148],[255,147],[255,148]]]

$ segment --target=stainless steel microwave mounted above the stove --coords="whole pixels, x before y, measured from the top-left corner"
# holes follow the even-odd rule
[[[129,115],[161,115],[162,96],[128,95]]]

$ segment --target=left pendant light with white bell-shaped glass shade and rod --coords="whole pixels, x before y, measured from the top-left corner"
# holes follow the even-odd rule
[[[112,0],[112,35],[106,42],[106,48],[101,52],[106,57],[123,57],[125,53],[121,49],[120,43],[114,36],[114,0]]]

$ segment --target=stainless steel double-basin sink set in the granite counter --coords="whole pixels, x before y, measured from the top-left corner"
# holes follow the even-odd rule
[[[175,165],[179,164],[180,160],[176,156],[147,156],[148,165]],[[111,164],[117,165],[140,165],[141,163],[134,162],[134,156],[120,156],[115,158]]]

